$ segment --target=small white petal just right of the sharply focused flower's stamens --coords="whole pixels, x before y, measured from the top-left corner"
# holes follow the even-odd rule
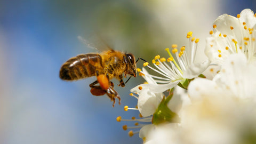
[[[204,70],[209,67],[210,60],[206,60],[202,63],[192,63],[188,69],[184,72],[183,78],[194,78],[202,74]]]

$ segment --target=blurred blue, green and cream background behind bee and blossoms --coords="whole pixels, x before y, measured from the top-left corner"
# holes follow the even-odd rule
[[[0,1],[0,143],[141,143],[122,129],[133,123],[116,122],[138,117],[123,107],[137,105],[129,93],[141,77],[115,86],[122,104],[114,108],[106,96],[91,95],[95,78],[60,80],[63,62],[94,52],[77,36],[100,34],[114,49],[151,61],[173,43],[184,45],[190,30],[203,45],[218,15],[255,6],[253,0]]]

